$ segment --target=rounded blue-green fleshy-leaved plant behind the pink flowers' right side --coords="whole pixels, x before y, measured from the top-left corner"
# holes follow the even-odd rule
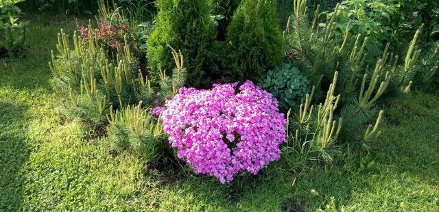
[[[264,74],[258,85],[278,99],[281,110],[293,108],[296,111],[309,93],[310,83],[292,64],[281,64]]]

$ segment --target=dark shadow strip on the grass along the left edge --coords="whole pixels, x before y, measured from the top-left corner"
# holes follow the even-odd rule
[[[23,208],[23,167],[29,157],[26,146],[27,107],[0,101],[0,211]]]

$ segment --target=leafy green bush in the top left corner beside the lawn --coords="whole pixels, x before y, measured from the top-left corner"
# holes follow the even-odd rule
[[[16,3],[23,1],[0,1],[0,56],[2,49],[9,53],[23,50],[29,22],[19,21],[21,9],[16,6]]]

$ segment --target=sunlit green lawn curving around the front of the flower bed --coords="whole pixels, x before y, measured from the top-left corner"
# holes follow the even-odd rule
[[[169,178],[58,114],[47,62],[58,30],[75,28],[69,19],[36,16],[27,56],[0,64],[0,211],[439,210],[439,95],[388,103],[372,150],[346,146],[327,167],[273,163],[234,185]]]

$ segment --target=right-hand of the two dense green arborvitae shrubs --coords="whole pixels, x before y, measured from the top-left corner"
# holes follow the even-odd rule
[[[230,77],[257,79],[281,63],[283,39],[276,5],[270,0],[244,0],[228,26]]]

